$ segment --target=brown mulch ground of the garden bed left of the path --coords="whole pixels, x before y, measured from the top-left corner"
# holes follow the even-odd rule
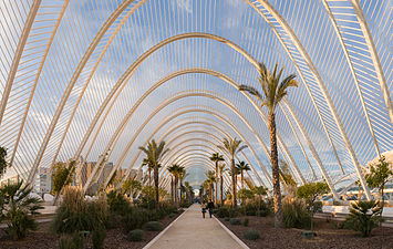
[[[159,221],[164,225],[164,228],[167,227],[172,221],[174,221],[180,214],[169,218],[166,216]],[[39,225],[37,231],[31,231],[28,236],[19,241],[14,241],[11,238],[7,237],[3,230],[0,229],[0,249],[52,249],[58,248],[58,242],[60,236],[53,235],[49,231],[50,222],[43,222]],[[105,249],[123,249],[123,248],[143,248],[146,246],[154,237],[156,237],[159,231],[147,231],[144,230],[144,240],[143,241],[128,241],[127,235],[122,228],[113,228],[106,230],[106,238],[104,242]],[[90,241],[86,241],[86,248],[92,248]]]

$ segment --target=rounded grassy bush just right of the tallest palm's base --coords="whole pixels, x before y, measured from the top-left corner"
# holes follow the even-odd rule
[[[282,205],[283,222],[287,228],[309,228],[311,216],[301,200]]]

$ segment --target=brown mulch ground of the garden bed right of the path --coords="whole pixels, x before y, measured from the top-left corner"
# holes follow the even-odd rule
[[[273,227],[272,217],[241,217],[249,219],[248,227],[230,225],[229,221],[219,220],[250,248],[393,248],[393,228],[375,228],[372,236],[363,238],[359,234],[334,228],[335,221],[316,219],[314,239],[303,239],[301,231],[306,229],[280,229]],[[248,229],[259,231],[260,239],[246,240],[244,234]]]

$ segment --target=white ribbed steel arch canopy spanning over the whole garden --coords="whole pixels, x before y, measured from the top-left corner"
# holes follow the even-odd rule
[[[280,158],[300,184],[324,178],[337,198],[360,179],[370,198],[362,166],[393,149],[391,0],[15,0],[0,8],[0,146],[11,165],[3,179],[35,186],[41,168],[81,156],[100,163],[107,152],[115,167],[134,167],[135,146],[156,133],[165,138],[174,123],[155,120],[184,106],[217,110],[215,98],[225,98],[236,112],[223,108],[231,126],[220,133],[247,139],[269,185],[267,116],[236,90],[257,86],[258,61],[278,61],[301,83],[278,110]],[[211,98],[176,101],[138,129],[187,91]],[[178,118],[209,116],[217,123],[211,112]],[[143,135],[125,146],[136,131]]]

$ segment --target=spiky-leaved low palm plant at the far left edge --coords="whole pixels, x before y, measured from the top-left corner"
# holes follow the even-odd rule
[[[29,230],[35,230],[37,221],[31,217],[43,209],[42,200],[31,197],[31,188],[23,181],[6,185],[0,189],[3,210],[0,214],[7,220],[6,232],[14,239],[25,237]]]

